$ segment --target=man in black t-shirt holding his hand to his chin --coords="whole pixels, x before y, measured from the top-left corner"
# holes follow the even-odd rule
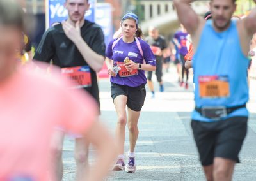
[[[99,25],[84,20],[84,13],[90,7],[88,0],[67,0],[65,7],[68,19],[47,29],[34,59],[52,60],[54,65],[60,66],[63,76],[73,80],[75,87],[85,89],[99,103],[96,72],[100,71],[105,59],[104,34]],[[57,159],[54,168],[57,180],[61,180],[63,175],[63,137],[64,133],[58,131],[52,144],[56,154],[54,159]],[[84,180],[84,170],[88,168],[88,143],[84,138],[76,138],[75,159],[76,179]]]

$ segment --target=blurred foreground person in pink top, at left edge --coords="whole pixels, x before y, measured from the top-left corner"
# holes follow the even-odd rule
[[[116,149],[108,131],[94,121],[97,104],[88,94],[67,89],[69,83],[58,76],[17,66],[24,22],[16,2],[0,1],[0,180],[49,180],[56,126],[83,135],[95,146],[97,161],[86,180],[102,180]]]

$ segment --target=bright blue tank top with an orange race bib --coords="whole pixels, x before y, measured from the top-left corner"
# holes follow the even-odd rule
[[[193,57],[195,105],[234,107],[248,101],[248,59],[241,49],[236,22],[221,33],[214,30],[212,20],[206,22]],[[227,117],[248,116],[240,108]],[[212,122],[194,111],[192,119]]]

